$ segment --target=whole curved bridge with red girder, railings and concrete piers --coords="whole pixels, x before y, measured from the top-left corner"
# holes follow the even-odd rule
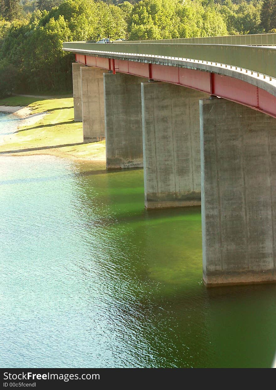
[[[145,207],[201,204],[207,286],[276,281],[276,34],[67,42],[83,142],[144,167]]]

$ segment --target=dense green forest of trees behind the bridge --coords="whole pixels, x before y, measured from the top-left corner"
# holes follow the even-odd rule
[[[276,0],[0,0],[0,96],[72,88],[64,41],[276,32]]]

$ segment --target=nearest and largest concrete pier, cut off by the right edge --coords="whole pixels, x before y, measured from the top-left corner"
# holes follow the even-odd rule
[[[276,281],[276,119],[200,101],[203,279]]]

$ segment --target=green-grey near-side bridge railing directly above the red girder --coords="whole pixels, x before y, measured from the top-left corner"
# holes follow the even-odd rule
[[[75,53],[108,57],[108,53],[128,55],[156,55],[161,57],[189,58],[212,61],[249,69],[276,78],[276,49],[258,46],[218,45],[218,44],[94,44],[86,42],[66,42],[63,48]]]

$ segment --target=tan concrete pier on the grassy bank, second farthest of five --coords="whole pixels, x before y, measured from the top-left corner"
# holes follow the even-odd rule
[[[104,138],[104,70],[92,66],[81,68],[83,142]]]

